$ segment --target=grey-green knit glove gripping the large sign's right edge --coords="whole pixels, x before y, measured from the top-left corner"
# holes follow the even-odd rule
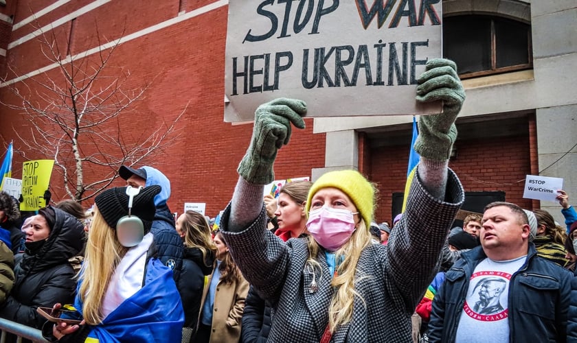
[[[419,117],[419,136],[415,151],[433,161],[446,161],[457,139],[455,119],[465,100],[465,91],[451,60],[435,58],[425,65],[418,78],[417,97],[420,102],[443,101],[443,112]]]

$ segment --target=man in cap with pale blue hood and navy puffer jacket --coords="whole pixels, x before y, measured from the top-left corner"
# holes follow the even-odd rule
[[[148,187],[159,185],[162,189],[155,196],[156,214],[152,222],[150,233],[154,239],[155,256],[172,269],[174,281],[179,281],[182,268],[182,255],[184,246],[176,228],[174,228],[174,217],[168,208],[168,198],[170,197],[170,180],[158,169],[144,166],[139,169],[122,165],[118,170],[121,178],[126,180],[126,185],[132,187]]]

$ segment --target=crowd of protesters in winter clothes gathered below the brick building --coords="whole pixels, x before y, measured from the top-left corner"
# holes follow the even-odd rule
[[[464,98],[455,64],[429,60],[417,99],[443,110],[419,120],[420,163],[392,225],[376,223],[376,185],[354,170],[263,198],[292,126],[304,128],[297,99],[256,110],[218,230],[194,211],[172,217],[170,180],[148,166],[122,166],[126,187],[88,211],[64,200],[23,217],[0,193],[0,317],[51,342],[577,342],[565,191],[565,227],[493,202],[453,228]],[[67,311],[47,320],[38,307]]]

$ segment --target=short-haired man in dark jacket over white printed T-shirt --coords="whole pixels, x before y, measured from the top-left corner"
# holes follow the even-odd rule
[[[429,342],[565,342],[572,274],[536,255],[523,209],[488,204],[479,237],[433,299]]]

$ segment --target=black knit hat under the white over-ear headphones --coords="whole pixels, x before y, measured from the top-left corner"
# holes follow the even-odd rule
[[[155,219],[156,206],[155,196],[160,193],[161,187],[153,185],[140,190],[134,199],[131,215],[135,215],[144,224],[144,233],[150,231],[152,221]],[[116,228],[120,218],[128,215],[128,196],[126,187],[106,189],[94,199],[98,211],[111,228]]]

